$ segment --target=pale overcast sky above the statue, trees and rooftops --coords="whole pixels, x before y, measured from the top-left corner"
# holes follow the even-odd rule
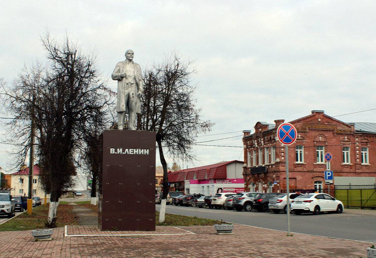
[[[197,142],[238,136],[203,143],[238,147],[197,146],[199,161],[176,162],[186,168],[243,160],[241,131],[257,121],[324,110],[347,123],[376,122],[376,110],[343,115],[376,108],[375,13],[374,0],[1,1],[0,78],[11,83],[25,64],[45,62],[46,30],[96,50],[114,89],[111,73],[127,49],[142,69],[176,51],[195,60],[197,107],[215,123]],[[12,147],[0,148],[7,170]]]

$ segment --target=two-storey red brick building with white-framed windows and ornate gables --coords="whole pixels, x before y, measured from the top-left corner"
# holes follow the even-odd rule
[[[246,191],[286,191],[286,146],[276,136],[283,122],[257,122],[253,134],[243,131]],[[344,123],[321,110],[290,123],[297,129],[296,142],[288,147],[290,189],[328,189],[326,152],[333,156],[334,184],[376,183],[376,123]],[[334,185],[330,188],[334,192]]]

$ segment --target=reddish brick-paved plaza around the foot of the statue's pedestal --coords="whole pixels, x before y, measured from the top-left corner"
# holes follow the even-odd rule
[[[195,234],[189,234],[190,231]],[[52,241],[34,242],[31,231],[1,232],[0,258],[359,258],[368,243],[315,237],[235,225],[235,234],[215,234],[214,226],[157,226],[149,232],[114,232],[114,236],[64,237],[56,228]],[[119,236],[121,234],[161,236]],[[112,234],[96,226],[67,226],[66,234]],[[182,235],[167,235],[182,234]]]

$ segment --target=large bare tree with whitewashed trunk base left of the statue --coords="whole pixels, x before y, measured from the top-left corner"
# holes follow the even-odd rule
[[[109,97],[94,53],[83,54],[68,36],[59,42],[48,32],[42,44],[48,63],[25,68],[6,100],[15,116],[8,125],[11,140],[20,143],[20,160],[27,153],[30,118],[35,124],[36,154],[44,189],[51,194],[46,225],[54,226],[59,197],[71,186],[71,175],[80,165],[79,150],[91,130],[88,123],[104,114]]]

